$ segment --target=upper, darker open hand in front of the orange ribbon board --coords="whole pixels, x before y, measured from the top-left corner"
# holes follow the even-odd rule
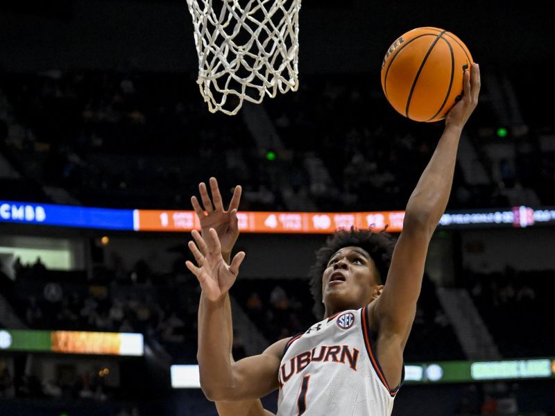
[[[206,184],[200,182],[200,184],[198,184],[198,191],[200,192],[200,199],[203,201],[204,209],[200,206],[196,196],[191,197],[191,204],[200,220],[200,232],[203,237],[208,237],[208,230],[214,228],[221,243],[223,257],[224,259],[228,257],[225,260],[229,261],[233,245],[237,241],[237,237],[239,237],[237,208],[239,208],[239,201],[241,200],[241,186],[237,185],[237,187],[235,187],[227,211],[223,209],[220,189],[215,177],[210,178],[210,190],[212,191],[212,200],[210,200],[210,196],[208,195]],[[210,244],[210,237],[208,237],[208,240],[207,243]]]

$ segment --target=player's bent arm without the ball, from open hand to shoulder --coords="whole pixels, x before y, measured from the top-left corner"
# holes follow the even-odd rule
[[[287,339],[268,347],[264,353],[232,363],[229,354],[230,328],[227,294],[237,279],[245,257],[239,252],[230,266],[223,261],[216,230],[211,228],[210,248],[200,234],[192,232],[196,244],[189,249],[198,266],[187,261],[187,268],[200,283],[203,313],[198,322],[198,367],[200,387],[206,397],[217,401],[257,399],[278,388],[278,369]]]

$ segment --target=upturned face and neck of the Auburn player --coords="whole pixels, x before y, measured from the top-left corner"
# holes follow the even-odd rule
[[[377,269],[370,255],[359,247],[345,247],[330,257],[322,277],[327,315],[359,309],[373,299]]]

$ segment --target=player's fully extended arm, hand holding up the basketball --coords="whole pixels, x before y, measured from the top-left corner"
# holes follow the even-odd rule
[[[479,67],[472,64],[464,74],[463,97],[447,114],[434,155],[409,198],[386,284],[375,303],[380,336],[398,337],[401,353],[416,313],[429,241],[449,200],[461,132],[477,105],[479,90]]]

